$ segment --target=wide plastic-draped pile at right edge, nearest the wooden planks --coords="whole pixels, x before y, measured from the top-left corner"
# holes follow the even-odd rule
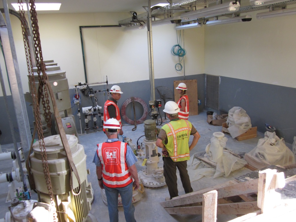
[[[287,166],[295,163],[293,152],[279,139],[275,132],[264,133],[264,138],[259,139],[257,146],[247,153],[248,158],[262,165]]]

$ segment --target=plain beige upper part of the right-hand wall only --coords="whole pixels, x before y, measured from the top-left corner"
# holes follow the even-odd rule
[[[256,13],[250,22],[205,27],[205,73],[296,88],[296,15]]]

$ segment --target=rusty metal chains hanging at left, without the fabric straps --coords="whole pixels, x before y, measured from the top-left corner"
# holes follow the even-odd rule
[[[36,14],[36,10],[35,10],[34,1],[30,1],[30,5],[31,5],[30,12],[31,12],[33,37],[34,37],[33,39],[34,39],[35,54],[36,54],[36,60],[37,60],[36,66],[37,66],[37,70],[38,70],[37,73],[38,73],[38,80],[39,80],[38,94],[36,91],[32,58],[30,56],[31,55],[30,54],[30,46],[28,44],[29,36],[28,36],[27,30],[29,30],[29,29],[28,29],[27,22],[25,19],[25,11],[23,9],[22,0],[18,0],[18,5],[19,5],[19,13],[20,13],[20,19],[21,19],[23,41],[24,41],[24,46],[25,46],[27,67],[28,67],[28,73],[29,73],[31,96],[32,96],[32,100],[33,100],[32,105],[33,105],[33,112],[34,112],[35,124],[36,124],[35,127],[37,129],[37,134],[38,134],[38,139],[39,139],[39,147],[40,147],[40,151],[41,151],[43,172],[44,172],[44,177],[46,180],[47,189],[49,191],[51,205],[53,206],[53,209],[54,209],[53,220],[54,220],[54,222],[57,222],[58,219],[57,219],[57,215],[56,215],[54,195],[53,195],[53,191],[52,191],[52,184],[51,184],[51,179],[50,179],[50,174],[49,174],[49,168],[48,168],[48,164],[47,164],[47,155],[46,155],[46,148],[45,148],[44,135],[43,135],[43,130],[42,130],[41,116],[40,116],[40,107],[39,107],[39,102],[41,99],[41,103],[43,105],[43,110],[44,110],[44,116],[45,116],[46,122],[49,126],[49,123],[51,123],[51,115],[48,114],[48,113],[50,113],[50,106],[49,106],[49,99],[48,99],[48,93],[46,90],[46,81],[45,81],[47,78],[47,75],[45,73],[45,65],[44,65],[43,59],[42,59],[40,36],[39,36],[38,24],[37,24],[38,21],[37,21],[37,17],[36,17],[37,14]],[[37,47],[38,47],[38,49],[37,49]],[[38,57],[39,55],[40,55],[40,60]],[[42,76],[40,75],[41,71],[42,71]],[[43,88],[44,88],[44,90],[43,90]],[[44,93],[43,93],[43,91],[44,91]],[[44,94],[45,94],[45,96],[44,96]]]

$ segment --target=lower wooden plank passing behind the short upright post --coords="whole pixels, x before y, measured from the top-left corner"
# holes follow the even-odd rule
[[[217,214],[247,214],[252,213],[259,208],[257,202],[237,202],[217,205]],[[169,214],[202,214],[202,206],[191,207],[170,207],[165,208]]]

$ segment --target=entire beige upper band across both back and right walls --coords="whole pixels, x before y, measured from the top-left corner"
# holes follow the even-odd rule
[[[296,15],[257,20],[256,13],[251,13],[250,22],[186,29],[185,46],[181,32],[181,44],[187,52],[181,72],[175,70],[178,57],[171,54],[178,37],[175,25],[153,27],[155,79],[180,77],[185,70],[185,75],[207,73],[295,88]],[[66,71],[69,87],[74,88],[74,84],[85,82],[79,26],[118,25],[119,20],[130,16],[129,13],[38,15],[44,60],[54,59]],[[27,92],[20,21],[11,16],[11,22],[23,91]],[[106,75],[110,84],[149,79],[147,28],[129,32],[123,29],[82,29],[89,83],[105,81]],[[0,62],[9,89],[2,56]]]

